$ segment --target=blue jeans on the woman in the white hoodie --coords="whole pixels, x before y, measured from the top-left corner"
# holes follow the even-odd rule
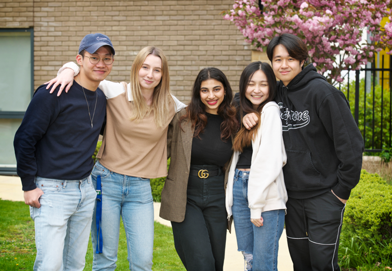
[[[248,171],[236,169],[232,211],[238,251],[253,255],[253,269],[250,268],[249,271],[275,271],[278,263],[279,238],[285,222],[285,210],[263,212],[261,216],[264,222],[261,227],[256,227],[250,222],[248,177]]]

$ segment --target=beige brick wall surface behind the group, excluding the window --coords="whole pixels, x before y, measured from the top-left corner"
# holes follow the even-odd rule
[[[116,49],[107,77],[129,81],[135,55],[148,45],[169,60],[172,93],[190,99],[200,69],[213,66],[238,91],[240,74],[251,61],[250,46],[221,11],[233,0],[0,0],[0,28],[34,26],[35,88],[74,61],[88,33],[108,35]]]

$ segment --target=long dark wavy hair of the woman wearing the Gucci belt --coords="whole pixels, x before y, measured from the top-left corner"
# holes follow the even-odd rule
[[[195,127],[194,137],[200,138],[199,134],[204,132],[204,128],[207,125],[206,108],[204,103],[200,99],[200,87],[203,81],[208,79],[215,79],[223,85],[226,91],[226,96],[218,107],[218,115],[223,118],[221,124],[221,140],[226,142],[230,139],[232,134],[238,129],[238,121],[236,118],[236,110],[231,105],[233,99],[233,91],[231,90],[230,83],[226,78],[226,75],[217,68],[204,68],[199,74],[197,74],[195,83],[192,89],[192,99],[187,106],[187,113],[180,118],[180,122],[183,119],[188,118],[192,122],[192,127]]]

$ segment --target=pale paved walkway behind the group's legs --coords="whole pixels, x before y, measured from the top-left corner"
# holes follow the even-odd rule
[[[0,198],[6,200],[24,201],[22,184],[19,177],[0,175]],[[170,222],[159,217],[160,203],[154,202],[154,219],[161,224],[171,226]],[[237,251],[237,241],[233,226],[232,233],[227,233],[226,253],[224,258],[224,271],[243,271],[244,259]],[[293,263],[287,247],[286,230],[283,231],[279,241],[278,270],[293,271]]]

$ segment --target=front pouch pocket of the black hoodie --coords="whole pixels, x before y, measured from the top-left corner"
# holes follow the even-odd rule
[[[313,191],[321,187],[321,173],[312,163],[309,151],[286,149],[287,164],[283,167],[286,188]]]

